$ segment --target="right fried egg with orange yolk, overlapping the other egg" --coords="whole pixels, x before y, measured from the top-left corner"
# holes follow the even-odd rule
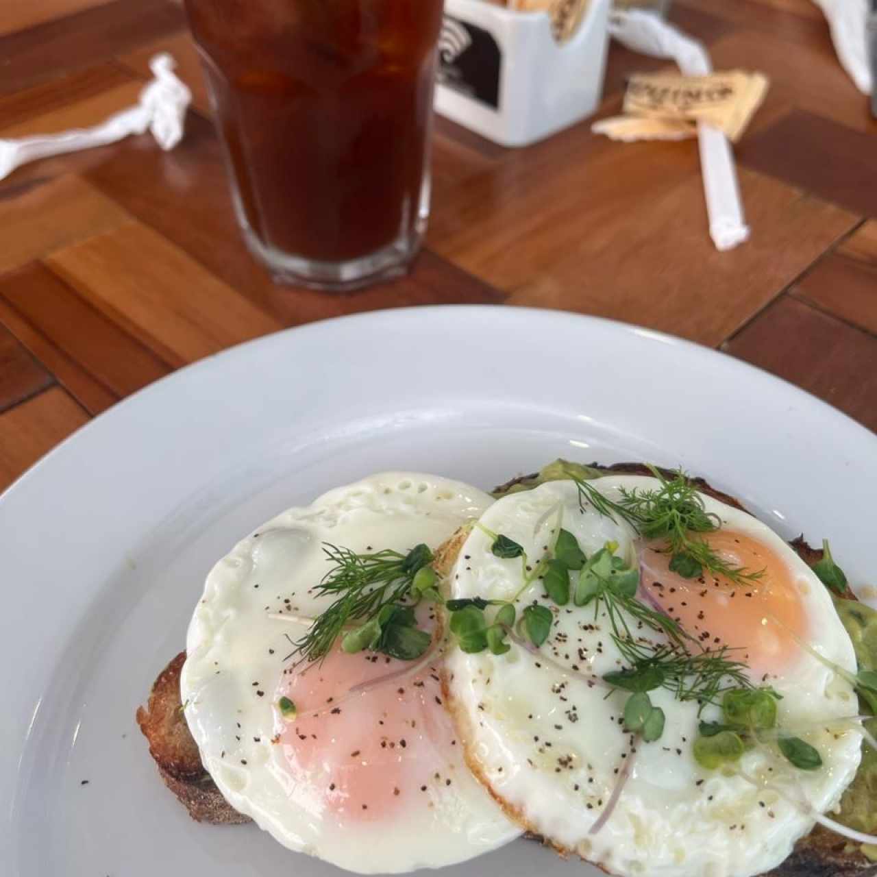
[[[591,483],[616,501],[620,488],[660,486],[638,476]],[[710,575],[682,579],[667,568],[660,545],[643,543],[631,526],[588,503],[581,509],[570,481],[505,496],[480,524],[523,545],[531,566],[559,526],[588,556],[616,542],[617,554],[641,566],[641,600],[660,605],[704,646],[738,650],[734,657],[751,668],[751,680],[782,696],[778,726],[816,747],[823,759],[818,770],[799,770],[769,743],[732,767],[704,769],[692,745],[699,720],[720,720],[719,708],[708,705],[699,716],[695,702],[676,700],[664,688],[650,692],[666,714],[660,739],[644,743],[625,731],[629,695],[602,680],[624,666],[602,604],[556,606],[539,580],[517,597],[518,617],[532,602],[553,612],[551,633],[538,650],[513,637],[502,655],[458,649],[446,659],[446,690],[474,773],[519,824],[560,852],[624,877],[768,871],[813,827],[815,811],[837,805],[859,766],[861,733],[844,721],[858,712],[852,686],[802,647],[856,672],[830,595],[765,524],[709,496],[703,502],[721,520],[721,529],[709,534],[711,545],[731,565],[763,569],[757,584]],[[451,576],[455,598],[510,600],[522,587],[521,560],[494,556],[491,544],[480,527],[471,532]]]

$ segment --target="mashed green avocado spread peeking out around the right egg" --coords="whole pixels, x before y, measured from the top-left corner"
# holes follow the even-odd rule
[[[591,466],[571,463],[568,460],[554,460],[541,468],[537,474],[516,478],[496,488],[497,498],[522,490],[537,488],[546,481],[566,481],[578,478],[589,481],[606,474]],[[852,639],[860,670],[877,671],[877,610],[855,600],[843,600],[832,595],[838,616]],[[870,713],[866,704],[861,710]],[[866,723],[869,731],[877,736],[877,717]],[[840,813],[835,816],[838,822],[866,834],[877,833],[877,752],[866,743],[862,744],[862,761],[856,778],[846,789],[840,802]],[[862,845],[862,852],[872,861],[877,861],[877,845]]]

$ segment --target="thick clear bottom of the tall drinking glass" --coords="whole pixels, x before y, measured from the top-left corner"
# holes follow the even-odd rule
[[[267,267],[275,282],[330,292],[347,292],[402,277],[417,255],[425,231],[424,227],[416,227],[403,232],[388,246],[358,259],[323,262],[291,256],[273,246],[266,246],[246,222],[242,221],[240,225],[246,246]],[[425,222],[422,225],[425,226]]]

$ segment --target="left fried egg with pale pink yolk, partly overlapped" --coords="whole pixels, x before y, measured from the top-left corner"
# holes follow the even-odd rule
[[[225,798],[289,849],[398,873],[520,834],[467,770],[439,651],[405,662],[336,646],[299,666],[290,654],[332,602],[311,590],[331,567],[324,544],[435,549],[491,502],[434,475],[374,475],[268,521],[208,575],[182,671],[189,729]]]

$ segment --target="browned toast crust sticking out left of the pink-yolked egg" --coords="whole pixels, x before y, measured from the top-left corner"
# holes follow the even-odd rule
[[[186,652],[180,652],[155,680],[146,708],[137,710],[137,724],[149,741],[149,754],[165,785],[180,799],[197,822],[241,824],[250,822],[232,808],[204,770],[189,725],[182,715],[180,674]]]

